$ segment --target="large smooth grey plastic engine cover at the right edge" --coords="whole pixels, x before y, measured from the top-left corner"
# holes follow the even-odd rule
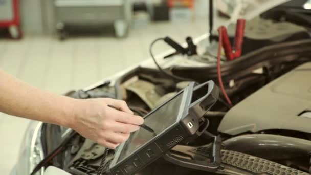
[[[311,62],[264,86],[225,115],[219,132],[237,135],[268,129],[287,129],[311,133]]]

